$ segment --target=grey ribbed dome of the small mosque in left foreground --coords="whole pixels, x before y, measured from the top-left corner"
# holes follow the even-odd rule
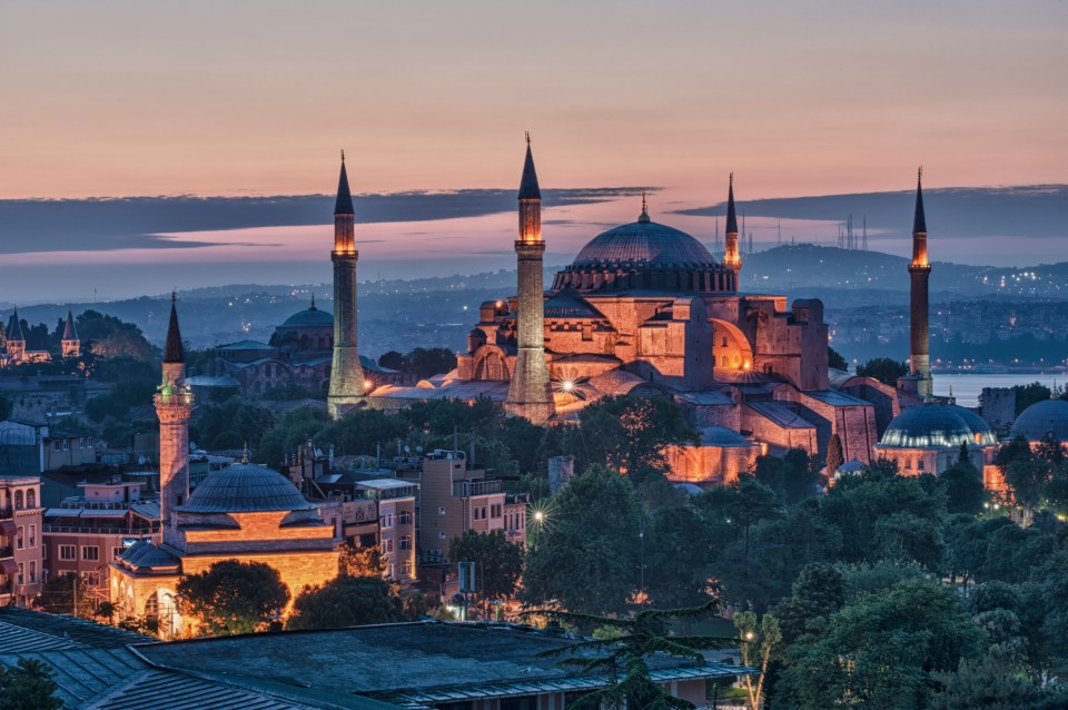
[[[314,507],[297,486],[277,471],[235,463],[206,477],[178,510],[182,513],[266,513]]]

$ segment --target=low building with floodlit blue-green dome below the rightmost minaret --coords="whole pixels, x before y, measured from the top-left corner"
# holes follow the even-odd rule
[[[931,402],[904,410],[890,422],[876,453],[897,463],[901,475],[938,475],[958,462],[962,444],[987,489],[1003,491],[1001,473],[993,465],[997,435],[981,416],[956,404]]]

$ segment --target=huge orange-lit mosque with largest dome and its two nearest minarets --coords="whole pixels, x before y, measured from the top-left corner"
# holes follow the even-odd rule
[[[823,304],[739,290],[733,183],[722,260],[692,235],[653,220],[643,199],[636,220],[594,236],[547,293],[540,272],[523,272],[544,244],[540,213],[531,211],[540,205],[536,185],[528,150],[515,243],[520,294],[482,304],[454,372],[415,387],[376,388],[369,405],[488,397],[545,421],[547,388],[552,423],[576,418],[602,397],[662,395],[704,432],[700,445],[669,452],[680,481],[729,482],[753,452],[824,453],[833,434],[847,458],[870,461],[876,411],[830,384]],[[524,352],[536,355],[523,362]],[[545,375],[530,359],[544,363]],[[891,407],[900,411],[897,401]],[[729,441],[710,433],[719,430]]]

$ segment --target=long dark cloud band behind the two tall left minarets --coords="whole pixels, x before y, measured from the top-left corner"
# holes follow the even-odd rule
[[[543,190],[546,207],[599,203],[643,187]],[[426,221],[515,209],[515,190],[471,189],[359,195],[356,221]],[[0,200],[0,254],[189,248],[204,241],[165,234],[329,224],[334,197],[123,197]],[[235,243],[237,244],[237,243]]]

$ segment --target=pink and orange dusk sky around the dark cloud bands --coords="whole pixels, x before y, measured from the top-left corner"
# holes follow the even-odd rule
[[[920,164],[931,188],[1062,186],[1066,36],[1054,0],[0,2],[0,211],[327,194],[342,148],[357,195],[463,200],[515,189],[525,130],[543,188],[600,190],[546,199],[562,258],[634,218],[619,188],[656,188],[663,221],[710,234],[731,170],[742,201],[908,190]],[[506,265],[514,214],[418,201],[363,221],[365,275]],[[127,229],[119,213],[71,220],[62,249],[33,224],[0,228],[20,267],[0,303],[146,293],[162,259],[179,287],[328,276],[328,210],[238,226],[216,210],[126,240],[109,237]],[[841,218],[784,228],[833,239]],[[907,226],[888,230],[886,250],[903,253]],[[426,252],[435,235],[447,258]],[[1013,236],[955,260],[1066,258],[1054,239],[1000,238]]]

